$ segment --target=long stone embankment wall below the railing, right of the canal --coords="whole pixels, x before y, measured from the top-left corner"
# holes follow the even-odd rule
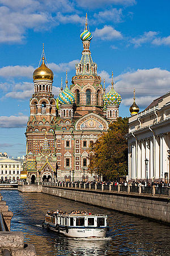
[[[164,196],[48,186],[42,186],[42,193],[170,223],[170,200]]]

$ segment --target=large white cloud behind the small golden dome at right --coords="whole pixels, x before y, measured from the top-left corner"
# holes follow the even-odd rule
[[[132,104],[135,88],[137,104],[146,108],[152,100],[169,91],[170,72],[160,68],[138,69],[115,77],[115,81],[116,90],[121,94],[123,104]]]

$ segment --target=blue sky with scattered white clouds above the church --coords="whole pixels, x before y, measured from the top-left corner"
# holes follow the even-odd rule
[[[170,1],[168,0],[0,0],[0,152],[25,154],[25,126],[32,73],[42,43],[54,72],[57,97],[61,77],[69,82],[82,55],[80,33],[88,15],[90,50],[107,91],[113,71],[121,94],[120,116],[136,102],[142,111],[169,91]]]

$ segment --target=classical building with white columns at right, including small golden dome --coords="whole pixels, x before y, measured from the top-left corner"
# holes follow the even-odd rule
[[[134,97],[130,112],[127,136],[129,179],[168,182],[170,176],[170,92],[154,100],[140,113],[138,113],[139,108],[135,104]]]

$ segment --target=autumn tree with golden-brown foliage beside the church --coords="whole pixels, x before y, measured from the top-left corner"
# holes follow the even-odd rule
[[[102,135],[90,147],[88,171],[103,175],[106,180],[114,180],[118,175],[128,173],[128,118],[117,118],[109,126],[108,133]]]

